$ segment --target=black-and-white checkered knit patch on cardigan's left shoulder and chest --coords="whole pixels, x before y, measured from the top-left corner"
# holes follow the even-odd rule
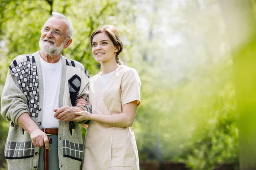
[[[28,107],[31,117],[38,117],[39,89],[38,72],[34,56],[26,56],[27,61],[17,64],[13,60],[9,69],[17,78],[20,90],[28,99]]]

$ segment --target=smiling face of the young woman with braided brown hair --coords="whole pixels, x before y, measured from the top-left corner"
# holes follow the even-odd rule
[[[94,35],[92,53],[97,62],[116,62],[117,51],[118,48],[113,44],[106,33]]]

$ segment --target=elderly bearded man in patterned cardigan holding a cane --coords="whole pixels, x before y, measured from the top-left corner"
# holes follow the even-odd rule
[[[79,170],[83,141],[79,124],[70,120],[77,111],[91,112],[90,105],[76,106],[79,97],[88,100],[89,77],[81,63],[61,55],[73,33],[64,15],[52,12],[41,33],[41,50],[12,61],[3,89],[1,114],[11,122],[8,169],[43,170],[43,147],[50,146],[50,170]]]

